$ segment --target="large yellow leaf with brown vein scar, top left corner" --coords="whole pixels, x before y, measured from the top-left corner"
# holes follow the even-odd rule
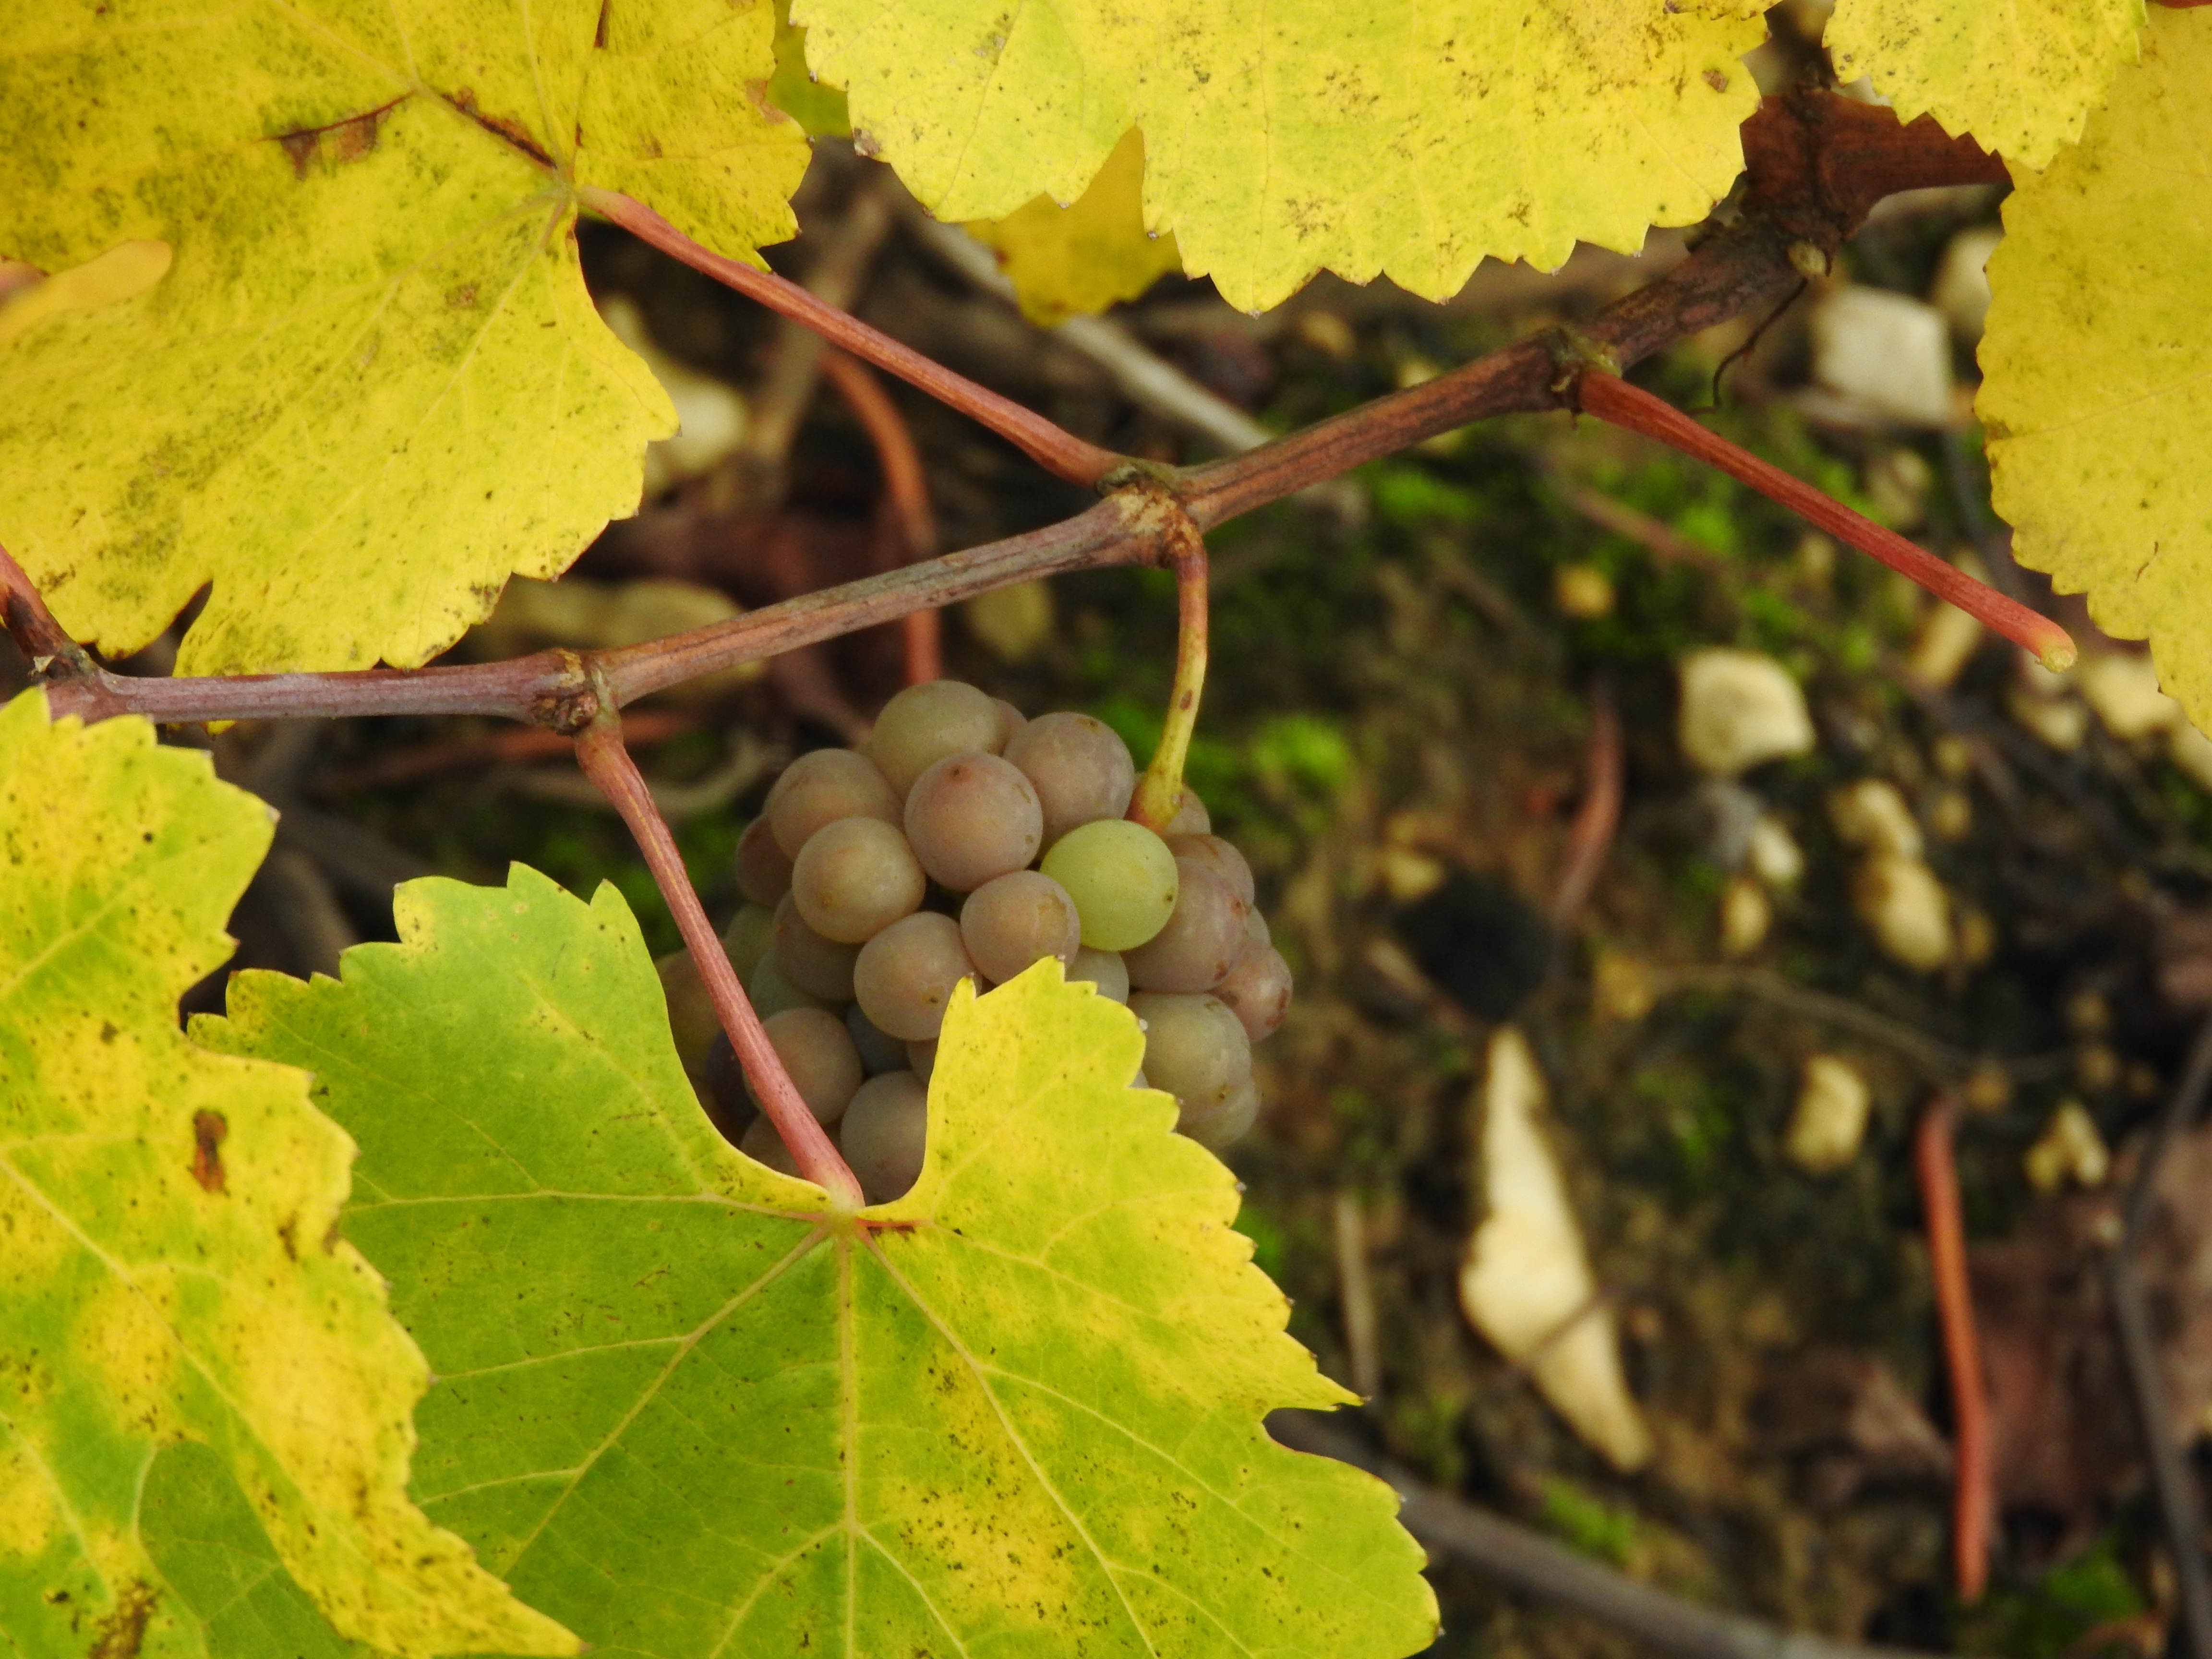
[[[770,0],[53,0],[0,55],[0,257],[166,243],[0,345],[0,544],[177,672],[420,664],[637,511],[675,414],[599,323],[575,190],[757,257],[805,137]]]

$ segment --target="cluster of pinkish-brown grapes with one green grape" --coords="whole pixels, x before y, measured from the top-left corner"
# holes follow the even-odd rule
[[[1181,1133],[1221,1148],[1252,1126],[1252,1044],[1283,1022],[1290,967],[1199,799],[1186,790],[1159,836],[1124,816],[1135,787],[1102,721],[1031,721],[953,679],[909,686],[858,750],[814,750],[776,779],[737,845],[748,902],[723,949],[872,1203],[920,1175],[953,987],[987,991],[1046,956],[1144,1022],[1133,1084],[1175,1095]],[[659,967],[708,1113],[790,1172],[690,958]]]

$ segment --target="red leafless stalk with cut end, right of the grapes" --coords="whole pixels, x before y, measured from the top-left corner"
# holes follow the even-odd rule
[[[1885,531],[1871,518],[1854,513],[1849,507],[1820,493],[1803,478],[1792,478],[1781,467],[1754,456],[1750,449],[1741,449],[1717,431],[1708,431],[1672,403],[1655,398],[1650,392],[1628,385],[1617,374],[1606,374],[1595,367],[1586,367],[1582,372],[1579,398],[1584,414],[1610,420],[1615,427],[1641,431],[1646,438],[1657,438],[1670,449],[1679,449],[1686,456],[1703,460],[1708,467],[1719,467],[1736,482],[1750,484],[1761,495],[1767,495],[1770,500],[1787,507],[1792,513],[1812,520],[1829,535],[1849,542],[1860,553],[1869,553],[1891,571],[1909,575],[1938,599],[1955,604],[1982,626],[2004,635],[2015,646],[2024,646],[2035,653],[2044,668],[2062,672],[2075,666],[2077,653],[2073,635],[2051,622],[2051,617],[2028,611],[2017,599],[2006,599],[1986,582],[1975,582],[1955,564],[1938,560],[1927,549],[1913,546],[1896,531]]]

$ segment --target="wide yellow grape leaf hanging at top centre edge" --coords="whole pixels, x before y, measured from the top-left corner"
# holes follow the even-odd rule
[[[1146,223],[1263,310],[1316,270],[1442,299],[1484,254],[1639,248],[1743,166],[1761,24],[1670,0],[794,0],[854,142],[940,219],[1071,201],[1130,126]]]

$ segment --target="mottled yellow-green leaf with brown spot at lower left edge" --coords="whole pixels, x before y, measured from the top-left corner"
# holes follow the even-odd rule
[[[146,721],[0,708],[7,1652],[241,1652],[204,1644],[142,1531],[181,1440],[347,1635],[575,1652],[407,1498],[429,1376],[336,1234],[352,1144],[303,1073],[177,1031],[268,843],[268,807]]]

